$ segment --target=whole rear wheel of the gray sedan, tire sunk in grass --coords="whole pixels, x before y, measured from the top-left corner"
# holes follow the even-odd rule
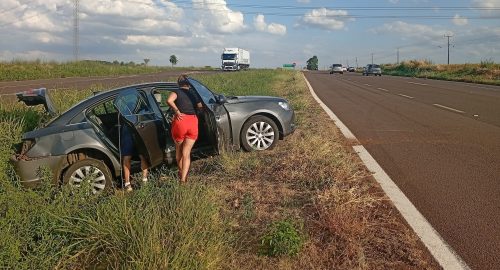
[[[63,183],[78,188],[87,181],[92,194],[98,194],[111,188],[111,179],[111,172],[104,162],[86,158],[69,166],[64,173]]]

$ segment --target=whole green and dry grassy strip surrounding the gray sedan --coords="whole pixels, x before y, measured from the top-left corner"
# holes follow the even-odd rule
[[[132,193],[89,196],[48,182],[29,190],[7,161],[46,117],[0,100],[0,268],[439,268],[299,72],[196,77],[226,95],[286,97],[296,132],[272,151],[198,159],[187,185],[161,168]],[[51,95],[67,108],[91,92]]]

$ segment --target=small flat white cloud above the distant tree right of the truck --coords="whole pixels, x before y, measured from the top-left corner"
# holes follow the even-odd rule
[[[326,8],[313,9],[307,12],[301,19],[301,22],[327,30],[344,29],[347,21],[353,21],[345,10],[332,10]]]

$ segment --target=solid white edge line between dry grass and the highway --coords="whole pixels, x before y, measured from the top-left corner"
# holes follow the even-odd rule
[[[344,137],[347,139],[354,139],[357,141],[354,134],[345,126],[342,121],[328,108],[316,95],[311,84],[304,74],[304,80],[307,87],[311,92],[314,99],[321,105],[323,110],[334,121],[335,125],[340,129]],[[394,206],[401,213],[403,218],[408,222],[413,231],[420,237],[427,249],[431,252],[436,261],[443,267],[443,269],[464,269],[469,270],[469,266],[455,253],[455,251],[444,241],[439,233],[432,227],[432,225],[425,219],[425,217],[418,211],[418,209],[410,202],[392,179],[380,167],[377,161],[368,153],[362,145],[353,146],[354,151],[361,158],[366,167],[373,172],[373,177],[380,184],[384,192],[394,203]]]

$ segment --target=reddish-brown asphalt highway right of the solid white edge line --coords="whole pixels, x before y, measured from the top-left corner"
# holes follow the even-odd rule
[[[500,87],[305,75],[472,269],[500,269]]]

